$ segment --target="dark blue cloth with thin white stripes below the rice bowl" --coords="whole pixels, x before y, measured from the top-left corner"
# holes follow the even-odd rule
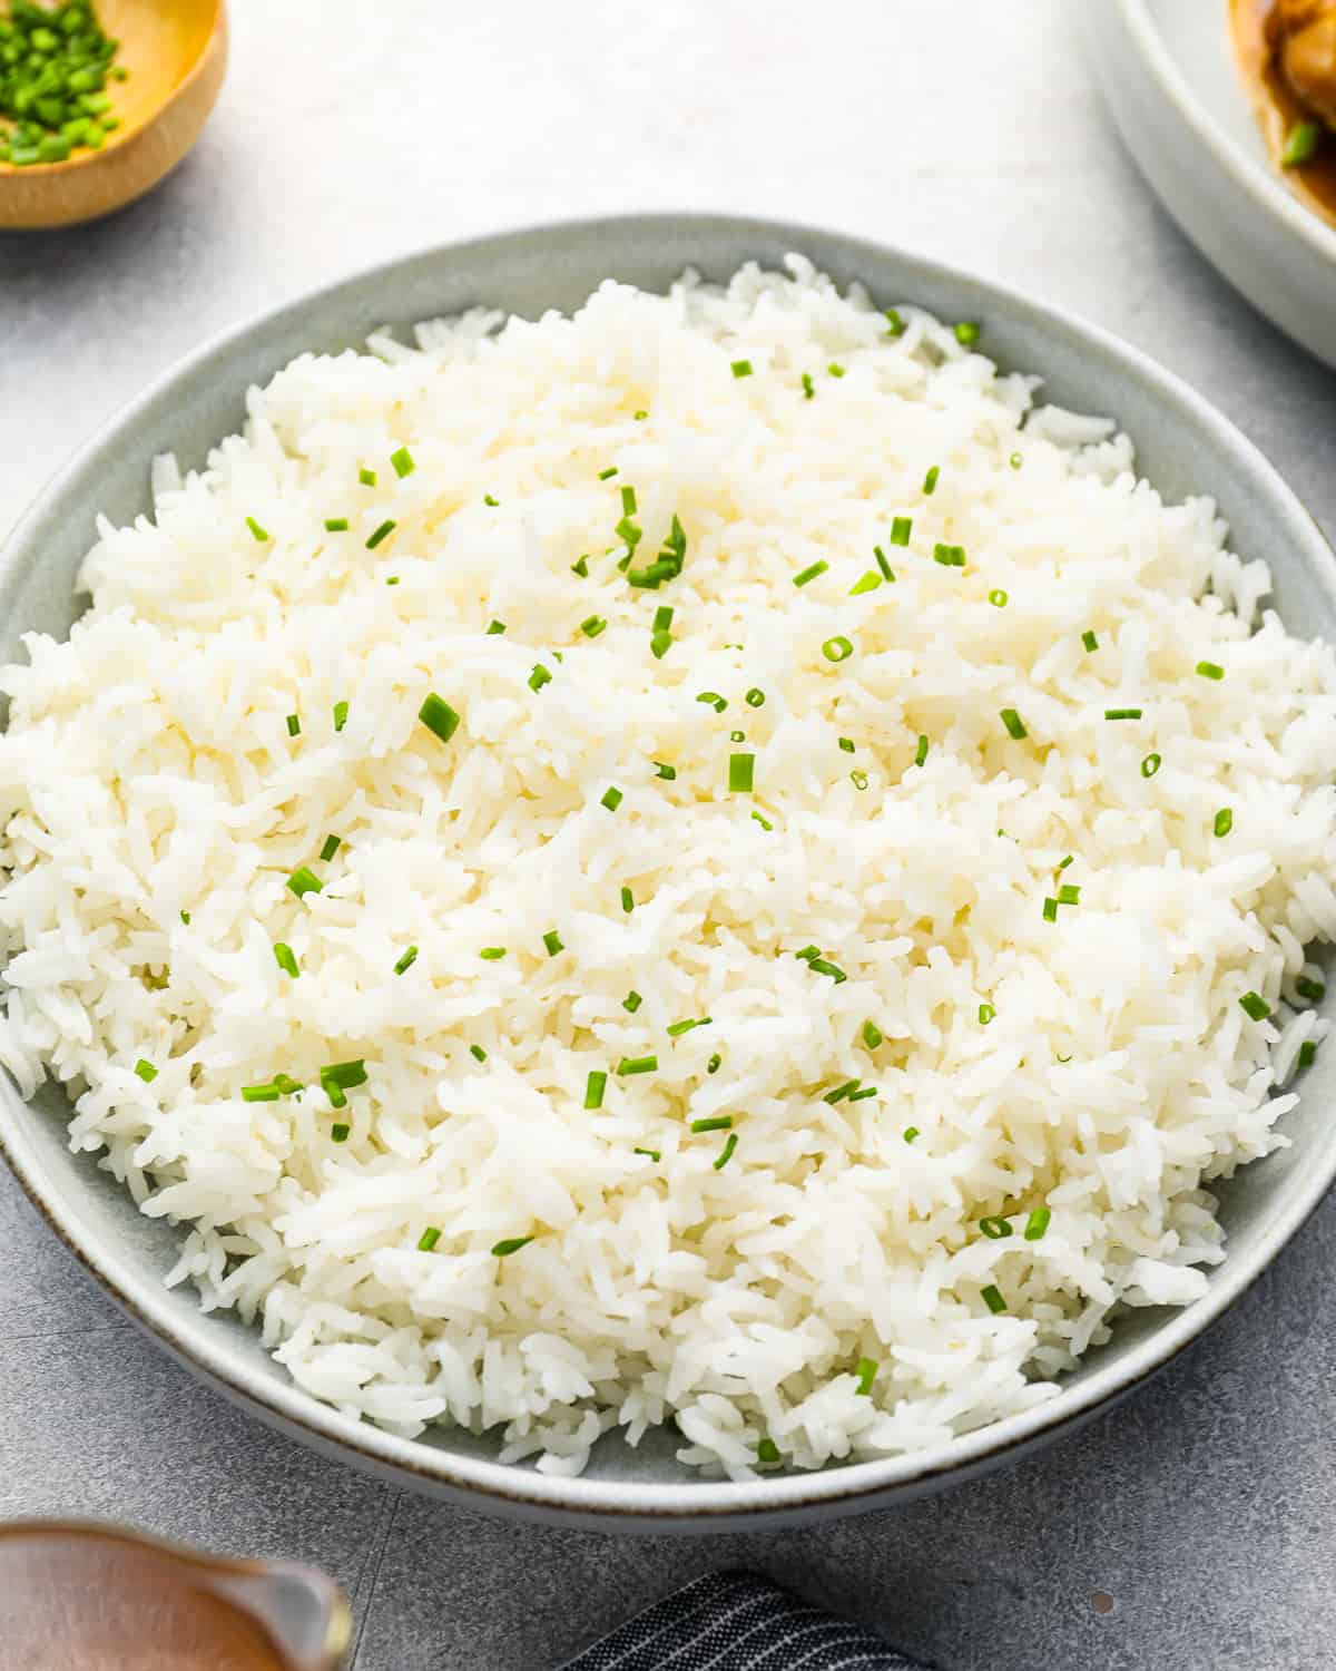
[[[753,1572],[708,1572],[618,1626],[563,1671],[930,1671],[862,1624]]]

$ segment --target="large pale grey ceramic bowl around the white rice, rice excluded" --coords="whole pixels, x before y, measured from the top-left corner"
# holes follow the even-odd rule
[[[431,251],[321,291],[200,349],[87,446],[5,545],[0,660],[20,653],[25,630],[67,632],[77,613],[72,582],[92,541],[94,513],[127,521],[147,511],[150,458],[170,448],[185,466],[200,465],[209,444],[242,421],[247,384],[269,378],[299,351],[346,348],[376,326],[404,326],[476,302],[526,316],[569,309],[608,276],[661,289],[695,266],[723,279],[743,261],[775,264],[795,249],[842,284],[862,279],[883,306],[913,301],[947,319],[982,321],[982,346],[1005,368],[1042,373],[1049,396],[1064,406],[1114,414],[1137,441],[1142,471],[1167,496],[1217,498],[1234,546],[1271,563],[1281,613],[1308,632],[1333,635],[1336,568],[1313,520],[1237,429],[1134,349],[1009,291],[875,244],[760,221],[665,216]],[[608,1435],[584,1477],[571,1481],[499,1464],[494,1439],[449,1429],[397,1439],[341,1415],[294,1387],[254,1330],[222,1313],[205,1317],[187,1288],[162,1287],[175,1232],[139,1215],[92,1156],[70,1155],[68,1105],[58,1091],[47,1088],[27,1106],[0,1081],[0,1148],[48,1222],[134,1318],[200,1379],[307,1444],[474,1507],[606,1529],[706,1531],[917,1496],[1020,1455],[1127,1394],[1221,1315],[1323,1196],[1336,1175],[1336,1121],[1326,1115],[1333,1089],[1336,1051],[1309,1071],[1304,1101],[1286,1120],[1293,1146],[1244,1168],[1221,1191],[1231,1252],[1209,1273],[1209,1292],[1196,1305],[1129,1313],[1114,1340],[1092,1352],[1052,1400],[1024,1415],[913,1455],[746,1484],[688,1475],[668,1432],[650,1435],[636,1450]]]

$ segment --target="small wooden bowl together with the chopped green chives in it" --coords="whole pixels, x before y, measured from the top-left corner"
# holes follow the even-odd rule
[[[40,10],[48,17],[37,18],[35,0],[0,0],[0,89],[12,100],[22,84],[30,100],[18,117],[0,107],[0,229],[10,231],[75,226],[142,197],[199,139],[227,69],[224,0],[43,0]],[[22,162],[8,160],[15,127]]]

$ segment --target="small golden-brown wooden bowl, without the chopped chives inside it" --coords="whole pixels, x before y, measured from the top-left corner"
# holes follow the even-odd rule
[[[67,162],[0,162],[0,229],[73,226],[134,202],[180,162],[214,109],[227,69],[224,0],[97,0],[97,17],[130,72],[107,84],[120,127],[102,150]]]

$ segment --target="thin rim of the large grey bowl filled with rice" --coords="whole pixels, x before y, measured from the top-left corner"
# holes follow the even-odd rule
[[[1137,0],[1124,0],[1137,3]],[[8,602],[12,571],[45,518],[55,513],[67,488],[95,465],[104,449],[132,436],[139,418],[174,386],[200,373],[215,358],[244,346],[261,331],[296,326],[312,307],[336,301],[342,291],[356,291],[369,279],[391,287],[397,276],[421,262],[449,262],[466,252],[504,256],[508,247],[519,252],[551,237],[590,239],[640,234],[645,239],[730,236],[750,239],[758,247],[782,242],[787,249],[808,249],[817,259],[835,252],[853,261],[892,261],[912,282],[924,304],[937,306],[934,294],[944,287],[965,287],[982,306],[1005,312],[1019,324],[1049,338],[1065,338],[1070,346],[1094,353],[1112,373],[1131,384],[1147,388],[1169,411],[1191,418],[1219,451],[1222,466],[1247,473],[1268,495],[1268,503],[1281,536],[1311,556],[1308,565],[1336,598],[1336,561],[1323,531],[1303,503],[1279,476],[1261,449],[1222,413],[1197,394],[1181,378],[1159,366],[1141,349],[1122,343],[1112,333],[1079,319],[1064,307],[1035,301],[1017,289],[982,279],[965,269],[924,257],[892,244],[882,244],[833,229],[750,219],[730,214],[663,212],[645,216],[600,216],[543,222],[513,231],[491,232],[471,239],[431,244],[418,251],[376,261],[334,282],[317,286],[299,297],[262,309],[240,324],[230,326],[175,361],[154,378],[102,429],[80,444],[55,473],[8,536],[0,541],[0,603]],[[820,252],[825,251],[823,257]],[[875,282],[875,281],[873,281]],[[276,368],[277,369],[277,368]],[[1035,368],[1042,369],[1042,368]],[[240,389],[237,394],[240,396]],[[219,1342],[202,1337],[192,1323],[202,1325],[205,1313],[194,1310],[190,1320],[175,1313],[172,1290],[162,1282],[145,1280],[127,1263],[117,1247],[100,1247],[82,1232],[80,1215],[63,1191],[48,1183],[47,1166],[25,1131],[27,1105],[20,1101],[8,1074],[0,1076],[0,1155],[8,1161],[25,1193],[84,1268],[110,1293],[132,1320],[152,1333],[170,1355],[194,1375],[242,1404],[271,1425],[277,1425],[344,1462],[381,1472],[397,1484],[412,1484],[454,1499],[473,1509],[521,1514],[546,1521],[605,1531],[726,1531],[765,1522],[793,1522],[805,1514],[857,1512],[878,1506],[888,1497],[908,1497],[964,1481],[984,1472],[1030,1445],[1082,1425],[1101,1409],[1144,1384],[1204,1330],[1214,1323],[1266,1270],[1271,1260],[1299,1230],[1336,1178],[1336,1125],[1309,1165],[1296,1173],[1283,1200],[1256,1233],[1252,1248],[1231,1255],[1212,1272],[1209,1292],[1176,1310],[1144,1340],[1124,1348],[1112,1362],[1089,1370],[1079,1382],[1062,1385],[1052,1397],[1030,1409],[990,1422],[942,1445],[903,1455],[867,1462],[845,1462],[817,1472],[763,1475],[757,1481],[690,1481],[643,1482],[621,1479],[564,1479],[539,1474],[519,1464],[461,1455],[443,1447],[404,1439],[356,1417],[341,1414],[302,1392],[291,1380],[266,1379],[239,1364]],[[52,1175],[53,1176],[53,1175]]]

